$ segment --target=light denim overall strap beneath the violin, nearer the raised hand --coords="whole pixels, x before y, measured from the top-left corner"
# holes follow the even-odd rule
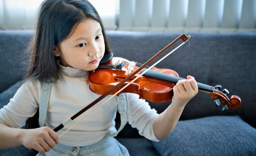
[[[118,112],[120,113],[121,125],[116,133],[109,134],[107,136],[117,136],[117,134],[124,128],[125,124],[128,122],[129,104],[127,93],[120,94],[118,99]]]

